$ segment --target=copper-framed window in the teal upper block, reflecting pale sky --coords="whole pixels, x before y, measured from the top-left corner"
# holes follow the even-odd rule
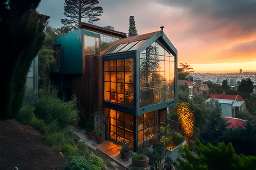
[[[98,37],[84,35],[83,45],[84,45],[83,54],[100,55]]]

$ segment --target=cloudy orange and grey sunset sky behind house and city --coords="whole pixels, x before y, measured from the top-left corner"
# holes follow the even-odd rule
[[[61,26],[65,0],[42,0],[38,11]],[[178,62],[195,72],[256,72],[256,0],[99,0],[104,13],[93,24],[138,34],[160,30],[178,50]],[[86,19],[84,20],[87,21]]]

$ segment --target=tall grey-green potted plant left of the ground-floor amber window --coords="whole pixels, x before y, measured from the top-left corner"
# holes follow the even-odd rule
[[[105,132],[105,122],[106,118],[101,109],[98,109],[94,112],[94,131],[96,136],[96,141],[101,144],[104,141],[104,132]]]

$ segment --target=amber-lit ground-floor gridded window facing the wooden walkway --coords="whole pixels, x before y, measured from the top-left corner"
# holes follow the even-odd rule
[[[131,148],[133,148],[133,125],[134,116],[113,109],[105,109],[108,111],[110,118],[109,135],[114,141],[122,141],[125,139]],[[106,114],[106,113],[105,113]]]

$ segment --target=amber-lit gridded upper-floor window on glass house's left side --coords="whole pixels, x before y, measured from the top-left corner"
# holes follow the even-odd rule
[[[104,100],[133,107],[133,58],[104,62]]]

